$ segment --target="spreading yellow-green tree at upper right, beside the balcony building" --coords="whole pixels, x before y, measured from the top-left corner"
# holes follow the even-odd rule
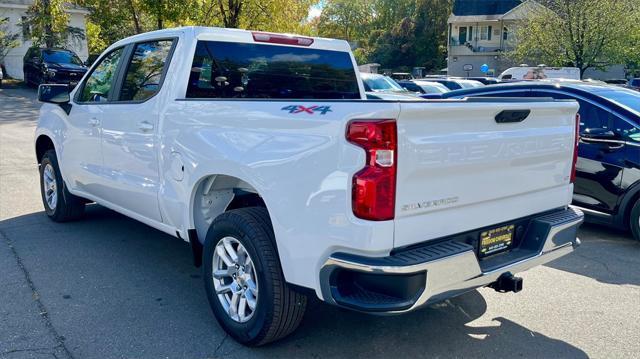
[[[509,56],[518,62],[571,65],[580,74],[624,63],[637,31],[637,0],[540,0],[530,20],[516,29]]]

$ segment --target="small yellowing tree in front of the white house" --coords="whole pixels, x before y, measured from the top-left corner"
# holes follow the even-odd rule
[[[29,26],[34,45],[64,46],[70,38],[85,38],[82,29],[69,26],[65,5],[62,0],[35,0],[29,6],[24,25]]]

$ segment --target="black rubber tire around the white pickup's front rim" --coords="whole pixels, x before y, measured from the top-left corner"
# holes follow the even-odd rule
[[[55,206],[49,205],[45,195],[45,169],[50,166],[55,177],[55,192],[57,195],[57,203]],[[58,158],[54,150],[48,150],[42,156],[40,161],[40,194],[42,195],[42,204],[47,216],[55,222],[67,222],[79,219],[84,213],[85,200],[72,195],[62,179],[60,167],[58,166]]]

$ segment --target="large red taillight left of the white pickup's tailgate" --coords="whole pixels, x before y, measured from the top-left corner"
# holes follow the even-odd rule
[[[367,159],[353,176],[353,214],[362,219],[393,219],[396,203],[398,135],[395,120],[352,121],[347,140],[362,147]]]

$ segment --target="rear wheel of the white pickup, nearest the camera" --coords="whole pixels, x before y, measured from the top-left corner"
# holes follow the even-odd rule
[[[218,216],[204,243],[205,290],[213,314],[238,342],[259,346],[293,332],[307,298],[284,280],[267,210]]]

